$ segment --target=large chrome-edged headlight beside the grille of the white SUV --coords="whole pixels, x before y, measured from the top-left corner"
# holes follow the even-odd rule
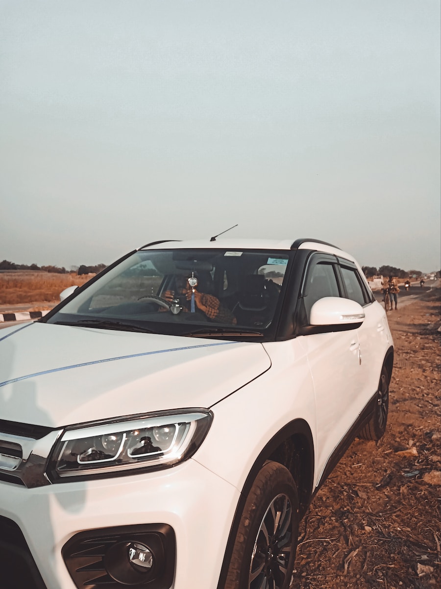
[[[212,413],[188,409],[66,428],[51,454],[52,482],[167,468],[202,444]]]

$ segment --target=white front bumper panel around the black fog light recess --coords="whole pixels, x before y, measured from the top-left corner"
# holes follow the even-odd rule
[[[46,589],[76,589],[62,557],[76,534],[142,524],[165,524],[174,531],[170,589],[215,589],[238,499],[238,489],[193,459],[165,471],[46,487],[0,481],[0,517],[21,530]],[[1,528],[4,545],[9,532]],[[9,562],[14,567],[15,561]],[[11,572],[7,578],[13,580]]]

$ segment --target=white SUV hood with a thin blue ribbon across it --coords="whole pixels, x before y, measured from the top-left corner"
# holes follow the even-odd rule
[[[270,367],[260,343],[31,323],[0,332],[0,418],[61,427],[209,408]]]

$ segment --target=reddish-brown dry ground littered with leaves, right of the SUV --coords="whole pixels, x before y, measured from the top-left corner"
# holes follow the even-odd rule
[[[296,589],[441,586],[440,289],[388,313],[389,422],[356,440],[300,524]]]

